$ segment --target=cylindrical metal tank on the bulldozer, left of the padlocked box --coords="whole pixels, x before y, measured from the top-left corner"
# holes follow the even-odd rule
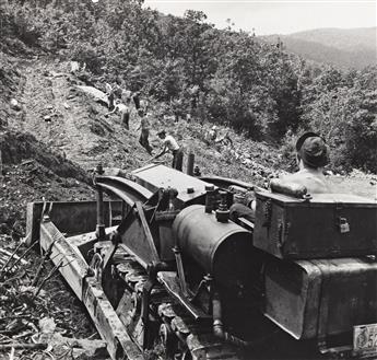
[[[241,287],[250,268],[252,235],[233,221],[219,222],[204,206],[181,210],[173,223],[175,240],[184,256],[211,274],[226,288]]]

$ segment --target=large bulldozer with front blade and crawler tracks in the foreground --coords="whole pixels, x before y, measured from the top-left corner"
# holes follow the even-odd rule
[[[191,164],[192,165],[192,164]],[[27,205],[111,359],[377,358],[377,205],[149,164]],[[229,219],[255,190],[256,220]]]

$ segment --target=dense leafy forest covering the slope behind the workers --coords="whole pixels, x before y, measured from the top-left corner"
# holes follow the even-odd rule
[[[2,0],[0,21],[9,55],[85,62],[89,83],[117,82],[283,153],[297,133],[315,130],[332,170],[377,172],[377,66],[309,62],[231,24],[217,30],[203,12],[164,15],[142,0]]]

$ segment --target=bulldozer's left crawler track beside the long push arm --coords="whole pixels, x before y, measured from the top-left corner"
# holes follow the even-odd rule
[[[117,249],[113,263],[125,286],[117,313],[129,334],[142,349],[141,299],[148,280],[144,269],[125,249]],[[154,287],[150,304],[150,328],[160,359],[240,359],[239,350],[212,334],[210,323],[197,323],[165,289]],[[177,353],[179,355],[177,357]]]

